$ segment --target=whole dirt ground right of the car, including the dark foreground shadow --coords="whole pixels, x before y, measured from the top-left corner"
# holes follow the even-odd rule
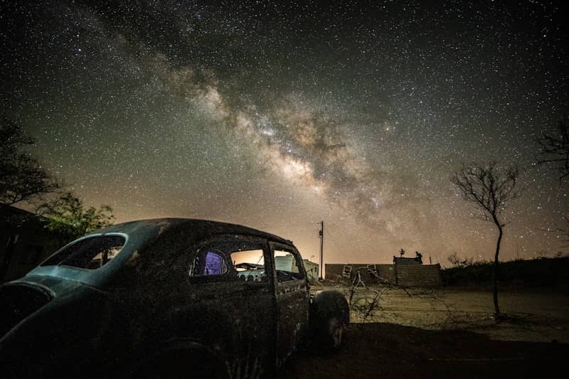
[[[360,287],[341,349],[309,347],[278,378],[569,377],[568,288],[503,287],[499,304],[496,323],[490,289]]]

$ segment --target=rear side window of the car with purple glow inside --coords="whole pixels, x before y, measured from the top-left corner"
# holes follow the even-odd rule
[[[267,282],[265,240],[243,235],[220,235],[201,242],[195,248],[190,277],[208,280]]]

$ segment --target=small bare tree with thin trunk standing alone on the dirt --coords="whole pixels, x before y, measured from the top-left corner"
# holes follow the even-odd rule
[[[494,313],[500,317],[498,305],[498,263],[500,243],[506,221],[502,212],[511,201],[518,198],[521,190],[518,183],[519,170],[516,166],[501,169],[495,161],[487,165],[462,165],[460,171],[451,177],[452,183],[459,189],[465,201],[474,204],[483,220],[491,221],[498,228],[496,253],[494,254]]]

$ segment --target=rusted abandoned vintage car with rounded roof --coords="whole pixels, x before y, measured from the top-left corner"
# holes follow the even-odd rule
[[[166,218],[71,242],[0,287],[0,317],[3,378],[260,378],[309,334],[339,346],[349,309],[289,240]]]

